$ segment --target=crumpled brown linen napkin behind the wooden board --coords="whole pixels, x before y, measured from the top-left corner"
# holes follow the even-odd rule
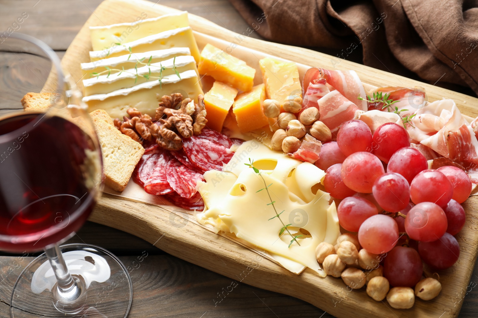
[[[269,40],[361,49],[365,65],[478,93],[477,0],[229,1]]]

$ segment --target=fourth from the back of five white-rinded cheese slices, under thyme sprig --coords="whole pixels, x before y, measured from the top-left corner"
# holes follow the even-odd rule
[[[177,56],[163,62],[152,63],[150,66],[139,67],[137,70],[130,69],[117,74],[105,74],[83,80],[83,95],[106,94],[148,81],[159,81],[162,76],[175,74],[175,71],[182,73],[189,70],[197,73],[194,57]]]

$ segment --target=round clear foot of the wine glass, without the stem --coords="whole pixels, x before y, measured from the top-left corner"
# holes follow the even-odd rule
[[[23,270],[13,287],[11,318],[126,318],[133,288],[123,263],[94,245],[67,244],[60,249],[70,274],[80,281],[80,288],[84,288],[81,297],[76,302],[55,299],[54,272],[42,254]]]

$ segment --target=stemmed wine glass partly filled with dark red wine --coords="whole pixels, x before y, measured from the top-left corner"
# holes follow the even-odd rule
[[[52,71],[45,85],[52,94],[39,99],[46,111],[0,117],[0,250],[44,250],[18,277],[11,317],[126,317],[132,285],[121,261],[98,246],[58,246],[85,223],[101,194],[101,151],[82,94],[42,41],[15,32],[0,51],[20,61],[28,53]],[[38,77],[19,65],[26,67],[18,77]]]

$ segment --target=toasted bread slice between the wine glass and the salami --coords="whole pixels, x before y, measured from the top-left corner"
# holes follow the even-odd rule
[[[103,155],[105,184],[115,191],[123,191],[136,164],[144,154],[140,143],[122,134],[104,110],[90,113]]]

